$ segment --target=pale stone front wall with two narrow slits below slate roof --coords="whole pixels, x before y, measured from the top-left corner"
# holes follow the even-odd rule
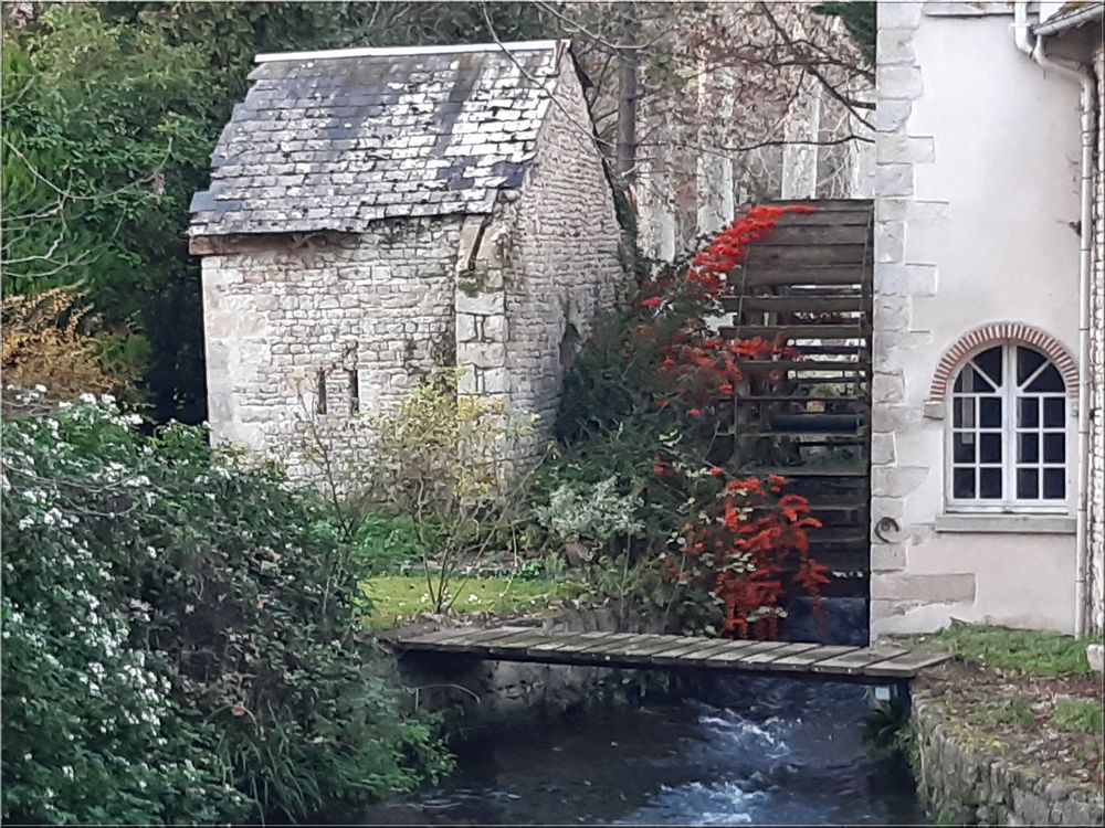
[[[351,411],[398,402],[417,376],[453,360],[460,219],[380,223],[360,235],[228,243],[203,258],[209,421],[317,476],[307,423],[336,452],[338,476],[369,435]],[[316,413],[325,372],[326,412]]]

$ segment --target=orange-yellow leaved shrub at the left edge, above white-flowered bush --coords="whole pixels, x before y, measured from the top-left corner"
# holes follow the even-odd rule
[[[119,392],[137,371],[108,355],[116,337],[99,330],[85,291],[62,286],[8,296],[2,304],[6,385],[45,385],[53,397]]]

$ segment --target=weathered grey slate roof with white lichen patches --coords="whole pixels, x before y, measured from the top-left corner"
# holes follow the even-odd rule
[[[522,184],[564,41],[260,55],[190,235],[486,213]]]

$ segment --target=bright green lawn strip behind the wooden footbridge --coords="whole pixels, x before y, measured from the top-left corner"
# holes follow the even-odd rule
[[[366,581],[364,587],[372,602],[366,624],[373,630],[389,629],[433,608],[423,573],[378,575]],[[502,615],[552,606],[580,593],[580,587],[564,581],[540,577],[512,580],[473,575],[464,581],[463,576],[454,576],[450,588],[457,595],[452,612]]]

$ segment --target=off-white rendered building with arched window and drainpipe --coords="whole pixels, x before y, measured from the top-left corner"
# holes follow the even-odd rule
[[[1101,2],[878,6],[872,635],[1102,628]]]

